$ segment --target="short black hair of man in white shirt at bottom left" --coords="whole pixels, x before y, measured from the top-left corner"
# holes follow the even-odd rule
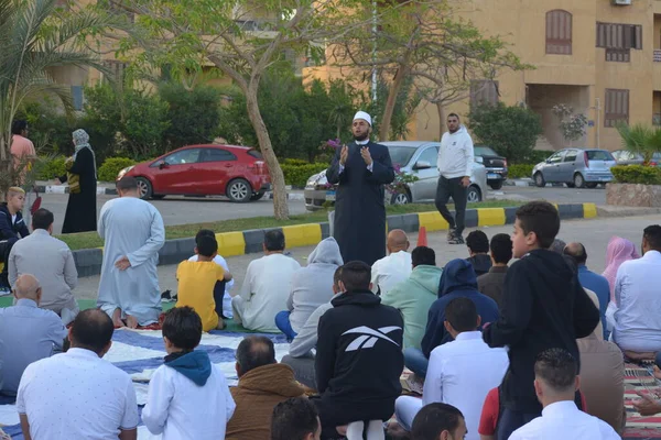
[[[72,346],[100,354],[112,340],[112,319],[100,309],[80,311],[72,323]]]

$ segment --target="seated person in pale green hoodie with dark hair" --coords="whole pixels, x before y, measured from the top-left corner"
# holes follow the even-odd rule
[[[398,309],[404,318],[404,349],[420,349],[430,307],[438,296],[443,270],[436,266],[433,249],[418,246],[411,253],[413,272],[409,279],[381,295],[381,302]]]

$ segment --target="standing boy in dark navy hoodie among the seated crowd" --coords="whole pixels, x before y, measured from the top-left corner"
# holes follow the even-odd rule
[[[559,348],[578,360],[576,339],[589,336],[599,323],[599,310],[576,272],[549,250],[559,230],[557,209],[546,201],[531,201],[517,210],[512,251],[521,260],[507,272],[500,319],[483,333],[489,346],[509,346],[499,439],[542,413],[533,387],[537,355]]]

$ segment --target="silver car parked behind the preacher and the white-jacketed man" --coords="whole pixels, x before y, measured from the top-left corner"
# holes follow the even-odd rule
[[[410,184],[404,191],[390,194],[392,205],[405,205],[418,202],[431,202],[436,197],[436,185],[438,183],[438,168],[436,158],[438,156],[440,142],[426,141],[393,141],[381,142],[388,147],[393,165],[401,166],[403,173],[412,174],[418,180]],[[468,187],[468,201],[481,201],[487,194],[487,170],[480,163],[474,163],[470,186]],[[326,172],[323,170],[307,179],[304,190],[305,208],[308,211],[322,209],[326,202],[335,204],[335,187],[328,186]]]

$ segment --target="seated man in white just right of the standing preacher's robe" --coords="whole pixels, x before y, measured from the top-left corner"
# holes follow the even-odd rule
[[[411,254],[409,238],[401,229],[393,229],[388,233],[386,248],[388,256],[378,260],[372,265],[372,292],[377,295],[387,294],[395,284],[403,282],[411,275]]]

